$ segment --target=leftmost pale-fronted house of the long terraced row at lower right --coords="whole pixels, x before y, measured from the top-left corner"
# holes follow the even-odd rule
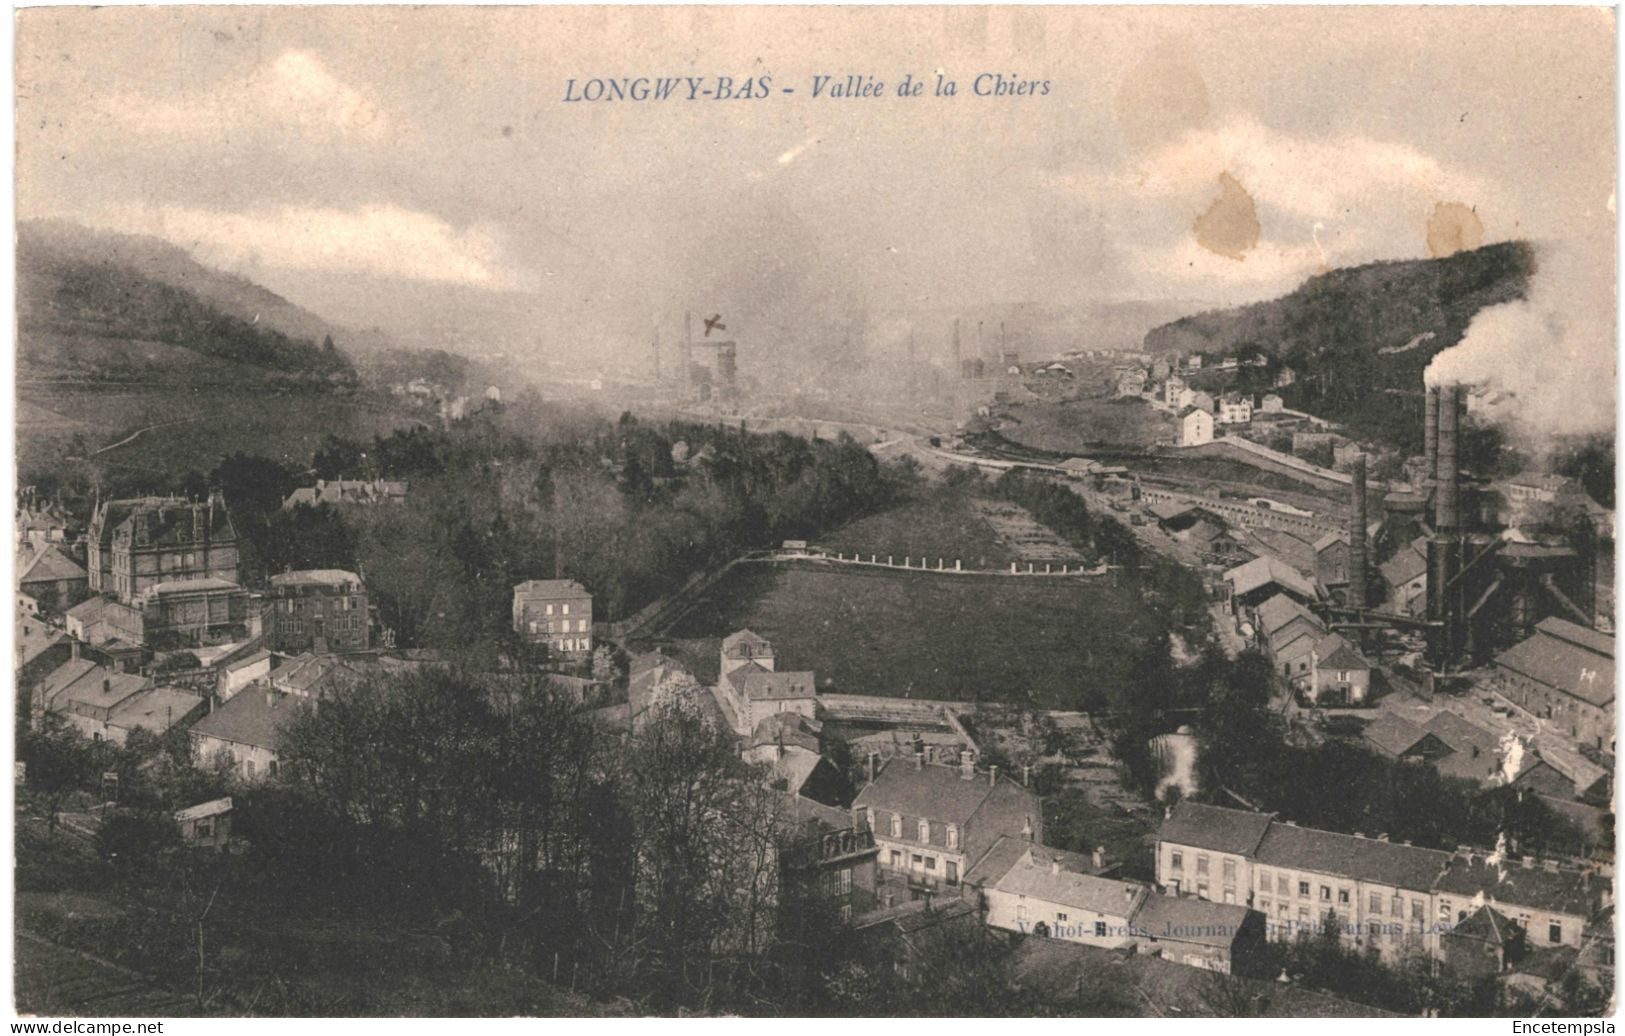
[[[1248,903],[1248,861],[1271,818],[1181,799],[1157,831],[1157,885],[1172,896]]]

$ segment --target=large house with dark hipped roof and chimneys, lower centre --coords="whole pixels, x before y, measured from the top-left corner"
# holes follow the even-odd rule
[[[1038,796],[998,766],[978,773],[968,752],[957,766],[926,763],[923,753],[892,758],[858,792],[853,810],[874,831],[882,870],[923,888],[957,887],[999,838],[1043,844]]]

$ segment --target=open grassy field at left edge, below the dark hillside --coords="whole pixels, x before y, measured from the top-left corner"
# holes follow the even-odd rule
[[[62,464],[75,435],[89,450],[110,447],[94,461],[127,474],[208,471],[231,453],[307,464],[325,435],[366,440],[406,421],[369,396],[219,386],[23,385],[18,464],[24,481],[32,471]]]

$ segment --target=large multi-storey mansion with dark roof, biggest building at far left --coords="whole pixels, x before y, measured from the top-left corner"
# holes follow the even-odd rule
[[[136,606],[153,586],[190,580],[237,583],[237,531],[226,500],[141,497],[107,500],[91,518],[89,588]]]

